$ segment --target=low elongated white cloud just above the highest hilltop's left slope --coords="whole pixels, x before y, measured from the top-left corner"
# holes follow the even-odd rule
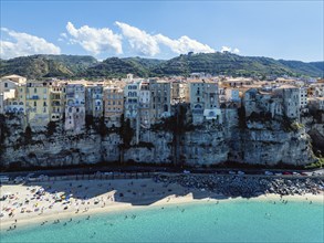
[[[173,52],[178,54],[184,54],[188,52],[196,53],[212,53],[213,49],[208,46],[207,44],[202,44],[196,40],[192,40],[186,35],[179,38],[178,40],[169,39],[163,34],[155,35],[155,39],[158,43],[161,43],[168,46]]]

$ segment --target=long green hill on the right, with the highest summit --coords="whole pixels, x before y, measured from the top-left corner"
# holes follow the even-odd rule
[[[157,75],[188,75],[205,72],[216,75],[263,76],[263,75],[306,75],[323,76],[320,68],[309,63],[275,61],[269,57],[241,56],[232,53],[208,53],[180,55],[171,59],[151,72]],[[323,62],[322,62],[323,63]]]

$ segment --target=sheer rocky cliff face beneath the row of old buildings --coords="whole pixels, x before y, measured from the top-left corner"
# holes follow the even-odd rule
[[[181,133],[155,128],[142,129],[139,142],[123,146],[117,130],[104,136],[95,129],[82,134],[43,128],[25,129],[23,118],[1,120],[0,165],[7,167],[56,167],[97,162],[147,162],[211,166],[226,161],[275,166],[302,166],[314,161],[305,128],[283,130],[276,122],[248,122],[239,127],[237,109],[222,113],[223,125],[215,122]],[[3,117],[2,117],[3,118]],[[4,126],[3,126],[4,125]]]

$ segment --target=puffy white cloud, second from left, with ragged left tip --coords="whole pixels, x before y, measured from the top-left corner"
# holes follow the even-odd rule
[[[77,43],[94,55],[103,52],[123,53],[122,36],[114,34],[108,28],[95,29],[83,25],[80,29],[75,29],[71,22],[67,22],[66,30],[72,36],[70,39],[71,44]],[[67,38],[66,33],[61,33],[61,36]]]

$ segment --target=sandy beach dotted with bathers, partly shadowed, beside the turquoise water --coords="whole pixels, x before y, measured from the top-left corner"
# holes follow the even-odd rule
[[[227,198],[210,191],[188,189],[177,183],[160,183],[154,179],[64,180],[8,184],[1,187],[1,230],[15,230],[27,224],[59,223],[62,219],[88,218],[94,213],[116,212],[174,203],[223,203]],[[244,199],[247,200],[247,199]],[[324,203],[324,194],[262,194],[250,200]]]

